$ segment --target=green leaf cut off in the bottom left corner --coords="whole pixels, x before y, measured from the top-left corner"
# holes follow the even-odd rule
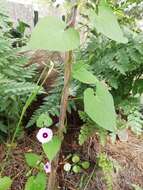
[[[5,176],[0,178],[0,190],[8,190],[12,184],[12,180]]]

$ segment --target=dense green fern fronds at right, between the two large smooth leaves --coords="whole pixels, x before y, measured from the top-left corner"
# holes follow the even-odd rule
[[[143,74],[142,34],[130,36],[127,44],[91,37],[80,60],[90,65],[100,80],[106,81],[114,98],[127,97],[132,94],[134,81]]]

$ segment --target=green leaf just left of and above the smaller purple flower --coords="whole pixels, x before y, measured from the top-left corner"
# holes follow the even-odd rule
[[[37,162],[41,160],[41,156],[35,154],[35,153],[26,153],[25,154],[25,159],[27,164],[30,167],[36,167],[37,166]]]

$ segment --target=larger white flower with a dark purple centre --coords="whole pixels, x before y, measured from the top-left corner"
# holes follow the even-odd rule
[[[49,128],[41,128],[38,133],[37,133],[37,139],[40,141],[42,144],[47,143],[52,140],[53,138],[53,132]]]

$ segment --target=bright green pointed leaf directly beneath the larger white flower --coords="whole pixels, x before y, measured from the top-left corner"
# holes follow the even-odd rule
[[[42,144],[42,147],[48,159],[52,161],[60,150],[61,139],[59,139],[57,136],[54,136],[50,142]]]

